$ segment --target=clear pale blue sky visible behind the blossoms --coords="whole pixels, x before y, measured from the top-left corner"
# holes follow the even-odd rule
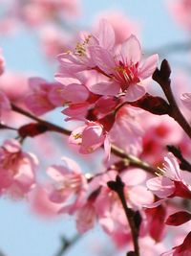
[[[166,0],[83,0],[80,26],[90,26],[99,11],[108,9],[122,10],[142,27],[141,41],[146,49],[155,49],[169,42],[183,41],[186,33],[182,32],[165,10]],[[50,70],[40,56],[35,37],[22,33],[15,37],[0,37],[0,47],[4,50],[7,68],[25,71],[35,76],[53,79],[54,70]],[[173,61],[174,57],[170,57]],[[54,221],[43,221],[31,214],[25,201],[0,199],[0,249],[6,256],[55,256],[60,246],[59,236],[74,231],[74,219],[59,217]],[[81,243],[69,250],[69,256],[92,256],[90,244],[105,240],[100,236],[99,228],[85,235]]]

